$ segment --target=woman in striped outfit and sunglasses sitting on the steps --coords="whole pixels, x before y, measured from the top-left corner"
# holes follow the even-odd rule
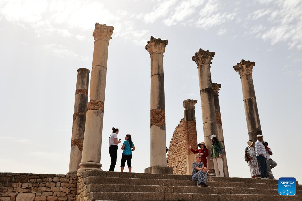
[[[196,161],[193,162],[192,180],[197,180],[198,187],[207,187],[208,168],[204,167],[204,163],[201,162],[201,154],[196,154],[195,159]]]

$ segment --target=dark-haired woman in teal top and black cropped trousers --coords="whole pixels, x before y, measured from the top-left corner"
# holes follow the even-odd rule
[[[134,144],[131,139],[131,135],[127,134],[125,137],[125,141],[122,146],[122,160],[120,161],[120,171],[122,172],[125,167],[125,163],[127,161],[129,172],[131,172],[131,159],[132,159],[132,151],[135,150]]]

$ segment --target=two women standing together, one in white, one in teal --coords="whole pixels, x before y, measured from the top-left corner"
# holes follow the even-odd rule
[[[118,144],[121,143],[120,139],[117,138],[118,128],[112,128],[112,134],[109,137],[109,154],[111,158],[111,165],[109,171],[114,171],[117,159],[117,148]],[[124,171],[125,163],[127,161],[127,166],[129,172],[131,172],[131,159],[132,159],[132,151],[135,150],[134,143],[132,142],[131,135],[127,134],[125,136],[125,141],[122,145],[123,153],[122,159],[120,161],[120,171]]]

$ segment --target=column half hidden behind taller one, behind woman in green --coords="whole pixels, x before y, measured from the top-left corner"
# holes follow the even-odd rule
[[[221,84],[212,83],[212,88],[213,88],[213,94],[214,94],[214,105],[215,105],[218,140],[222,143],[222,146],[224,148],[223,152],[222,152],[223,174],[225,177],[229,177],[229,169],[227,167],[227,161],[226,161],[226,147],[224,145],[223,130],[222,130],[222,123],[221,123],[221,115],[220,115],[219,95],[218,95],[218,92],[221,88]]]

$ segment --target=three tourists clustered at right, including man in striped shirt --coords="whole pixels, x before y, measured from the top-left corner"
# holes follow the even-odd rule
[[[272,168],[277,166],[277,163],[271,159],[273,152],[271,148],[268,147],[268,142],[262,143],[262,135],[257,135],[257,141],[254,145],[254,141],[249,140],[247,144],[248,153],[249,153],[249,169],[251,172],[252,178],[260,175],[261,179],[268,179],[267,173],[271,179],[275,179],[273,173],[271,172]],[[258,167],[259,164],[259,167]]]

